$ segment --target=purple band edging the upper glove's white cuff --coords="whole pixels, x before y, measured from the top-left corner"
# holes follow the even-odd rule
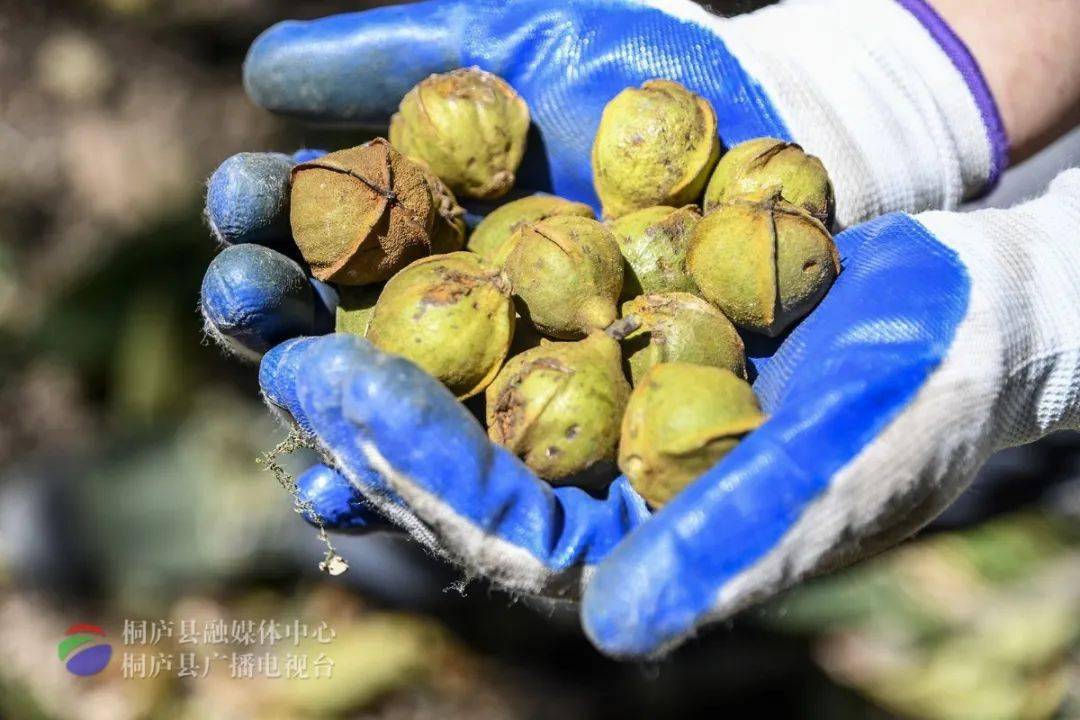
[[[986,193],[997,185],[1002,171],[1009,165],[1009,137],[1005,135],[998,105],[994,100],[989,85],[986,84],[986,78],[983,77],[983,71],[968,50],[968,45],[926,0],[896,0],[896,2],[927,28],[930,37],[941,45],[953,60],[953,65],[960,71],[972,97],[975,98],[975,105],[978,106],[983,124],[986,126],[986,137],[990,142],[990,176],[982,190]]]

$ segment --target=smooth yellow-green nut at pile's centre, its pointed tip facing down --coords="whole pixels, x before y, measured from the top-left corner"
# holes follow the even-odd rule
[[[581,338],[618,316],[622,255],[596,220],[561,215],[524,226],[499,259],[518,311],[549,337]]]

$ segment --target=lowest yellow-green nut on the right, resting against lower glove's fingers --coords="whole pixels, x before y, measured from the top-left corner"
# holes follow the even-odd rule
[[[754,391],[731,370],[663,363],[631,393],[619,468],[646,502],[660,507],[764,421]]]

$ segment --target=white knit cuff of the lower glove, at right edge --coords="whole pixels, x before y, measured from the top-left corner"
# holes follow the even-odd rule
[[[960,380],[941,408],[958,434],[983,433],[988,452],[1080,429],[1080,169],[1008,210],[916,219],[971,276],[962,356],[945,363]]]

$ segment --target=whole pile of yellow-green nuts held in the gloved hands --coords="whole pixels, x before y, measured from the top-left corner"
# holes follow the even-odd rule
[[[491,440],[540,477],[596,487],[617,463],[662,505],[765,420],[739,330],[782,334],[836,279],[832,184],[782,140],[721,157],[708,101],[651,80],[604,110],[603,220],[537,194],[470,234],[456,196],[510,191],[528,128],[500,78],[432,76],[389,141],[295,166],[293,236],[339,289],[338,331],[483,394]]]

